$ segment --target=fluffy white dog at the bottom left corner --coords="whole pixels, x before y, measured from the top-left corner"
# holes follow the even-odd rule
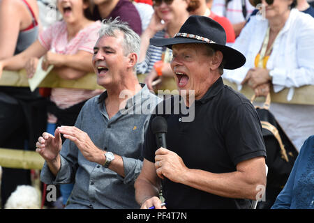
[[[6,209],[40,209],[40,191],[29,185],[17,186],[4,206]]]

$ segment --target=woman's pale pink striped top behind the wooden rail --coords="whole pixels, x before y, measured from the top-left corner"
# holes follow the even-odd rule
[[[76,54],[80,50],[93,54],[100,26],[100,21],[94,22],[80,30],[74,38],[68,41],[66,23],[63,21],[56,22],[40,33],[38,40],[47,50],[54,50],[57,54]],[[80,61],[77,61],[77,63],[80,63]],[[54,88],[50,100],[56,103],[59,108],[66,109],[101,92],[103,90]]]

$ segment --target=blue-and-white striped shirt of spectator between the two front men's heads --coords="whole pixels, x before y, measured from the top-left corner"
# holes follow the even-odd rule
[[[165,30],[158,31],[153,38],[165,38],[166,32]],[[172,56],[172,50],[167,51],[166,47],[156,47],[154,45],[149,45],[149,48],[146,52],[146,58],[141,63],[137,63],[137,74],[147,74],[151,72],[151,69],[154,67],[154,64],[157,61],[161,61],[163,58],[163,54],[167,52],[167,54],[170,54],[168,56],[164,56],[165,58],[171,58]],[[165,61],[166,63],[169,63],[170,61]]]

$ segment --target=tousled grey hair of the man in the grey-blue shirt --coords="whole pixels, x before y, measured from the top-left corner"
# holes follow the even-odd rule
[[[110,18],[109,20],[103,20],[103,22],[101,22],[101,27],[98,31],[98,39],[104,36],[117,37],[117,31],[124,33],[124,55],[127,56],[130,53],[135,53],[138,56],[140,54],[140,36],[130,29],[128,22],[120,21],[119,17],[116,17],[114,20]],[[136,64],[133,69],[136,70]]]

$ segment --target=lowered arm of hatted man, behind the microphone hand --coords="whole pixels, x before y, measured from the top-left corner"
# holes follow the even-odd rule
[[[135,181],[135,199],[142,209],[155,206],[160,207],[159,191],[161,187],[160,178],[156,174],[154,162],[144,159],[140,175]]]

